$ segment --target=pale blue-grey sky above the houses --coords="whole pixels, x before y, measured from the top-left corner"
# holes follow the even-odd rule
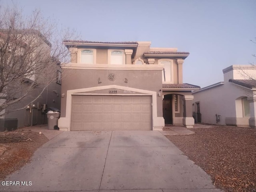
[[[223,81],[222,69],[256,64],[256,0],[13,0],[30,14],[39,8],[82,40],[151,41],[151,47],[190,52],[183,82]],[[1,5],[12,4],[1,0]]]

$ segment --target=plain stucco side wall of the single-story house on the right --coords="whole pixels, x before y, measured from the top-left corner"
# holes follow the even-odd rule
[[[237,116],[236,99],[248,96],[246,89],[225,82],[222,85],[206,90],[192,93],[194,96],[194,109],[196,112],[196,102],[200,102],[200,113],[202,114],[202,123],[216,124],[215,114],[220,115],[218,124],[225,125],[226,118],[241,118]],[[242,108],[240,108],[242,110]],[[241,114],[242,112],[240,112]],[[230,121],[228,121],[230,122]],[[243,120],[238,120],[243,122]]]

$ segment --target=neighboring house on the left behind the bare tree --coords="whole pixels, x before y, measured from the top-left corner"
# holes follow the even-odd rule
[[[19,62],[22,63],[25,58],[30,58],[30,60],[33,60],[34,56],[36,55],[35,52],[39,52],[37,55],[40,56],[40,50],[44,50],[41,54],[40,61],[44,58],[50,58],[53,61],[53,64],[57,66],[56,59],[51,58],[50,56],[50,47],[51,44],[46,40],[42,34],[40,34],[38,31],[35,30],[16,30],[14,31],[15,34],[8,33],[7,30],[0,30],[0,49],[1,49],[1,65],[3,67],[3,71],[1,74],[1,82],[0,86],[1,88],[4,87],[4,89],[1,89],[0,93],[0,106],[3,104],[6,104],[8,107],[4,110],[0,111],[0,114],[5,114],[3,116],[0,116],[0,131],[4,131],[6,129],[12,130],[14,127],[23,127],[23,126],[31,126],[38,125],[38,124],[47,124],[47,118],[46,118],[46,112],[47,107],[53,107],[60,110],[60,97],[61,97],[61,69],[59,71],[53,72],[52,74],[54,76],[58,76],[57,82],[52,82],[41,94],[41,96],[31,103],[43,90],[44,87],[42,87],[39,82],[43,82],[49,76],[47,77],[46,74],[49,74],[46,72],[46,69],[44,70],[45,74],[36,73],[31,70],[31,73],[26,72],[26,68],[32,68],[31,63],[28,62],[28,66],[26,66],[26,62],[19,65]],[[22,34],[24,33],[24,34]],[[37,40],[37,42],[32,42],[28,39],[34,39]],[[38,44],[38,48],[35,46],[35,44]],[[6,48],[5,48],[6,46]],[[34,46],[29,49],[29,46]],[[8,48],[7,48],[8,47]],[[34,52],[30,52],[31,50],[34,50]],[[18,54],[17,54],[18,52]],[[24,55],[26,52],[27,55]],[[28,52],[30,54],[28,54]],[[45,53],[48,53],[46,56]],[[4,60],[4,61],[3,61]],[[38,59],[39,60],[39,59]],[[35,61],[36,62],[36,59]],[[30,64],[30,65],[29,65]],[[38,65],[41,63],[39,62]],[[37,64],[36,64],[37,65]],[[33,65],[35,67],[36,65]],[[38,68],[35,67],[35,70]],[[16,72],[14,72],[16,71]],[[27,70],[29,71],[29,70]],[[13,72],[13,73],[12,73]],[[6,74],[10,74],[7,78]],[[17,80],[15,80],[15,75],[21,74]],[[6,78],[6,79],[4,79]],[[8,82],[11,78],[14,78],[14,81]],[[5,85],[4,85],[5,84]],[[31,84],[33,84],[32,90],[28,88]],[[24,89],[28,88],[27,95]],[[20,89],[20,90],[18,90]],[[18,90],[18,91],[17,91]],[[20,91],[20,92],[19,92]],[[24,92],[22,92],[24,91]],[[16,100],[17,98],[22,97],[23,95],[26,95],[24,98],[22,98],[19,102],[16,102],[14,104],[10,104],[10,101]],[[27,108],[22,110],[16,110],[19,108],[22,108],[27,105]],[[10,112],[14,110],[13,112]],[[9,112],[9,113],[8,113]]]

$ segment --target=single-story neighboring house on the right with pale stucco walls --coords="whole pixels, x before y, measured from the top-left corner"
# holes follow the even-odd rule
[[[255,127],[256,67],[232,65],[222,71],[224,82],[192,92],[195,121]]]

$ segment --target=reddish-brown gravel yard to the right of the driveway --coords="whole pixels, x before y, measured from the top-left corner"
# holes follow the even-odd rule
[[[213,126],[189,130],[195,134],[166,137],[208,173],[216,187],[256,192],[256,129]]]

